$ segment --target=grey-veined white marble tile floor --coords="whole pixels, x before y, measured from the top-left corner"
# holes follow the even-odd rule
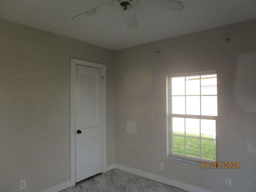
[[[113,169],[106,173],[80,181],[61,192],[185,192],[122,170]]]

